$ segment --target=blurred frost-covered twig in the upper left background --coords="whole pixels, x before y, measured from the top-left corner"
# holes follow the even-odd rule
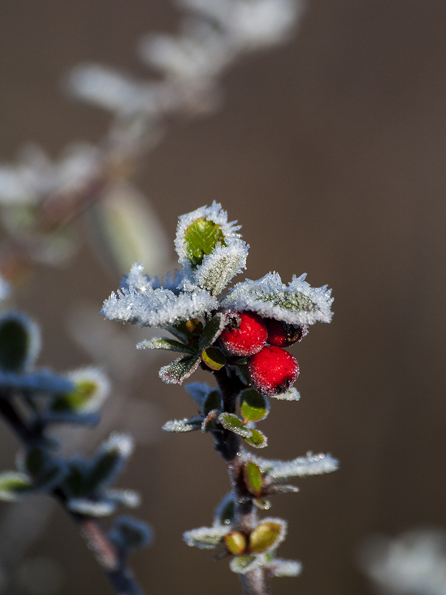
[[[110,67],[83,64],[65,78],[73,97],[107,109],[99,146],[71,143],[58,162],[26,146],[17,165],[0,167],[0,214],[10,233],[1,270],[20,280],[31,261],[58,264],[76,249],[68,224],[89,206],[102,259],[125,270],[135,261],[160,270],[165,237],[156,214],[131,183],[141,158],[161,140],[167,117],[191,118],[219,105],[222,74],[244,54],[288,39],[301,0],[181,0],[176,36],[151,34],[140,57],[161,78],[133,80]],[[145,221],[141,226],[140,222]]]

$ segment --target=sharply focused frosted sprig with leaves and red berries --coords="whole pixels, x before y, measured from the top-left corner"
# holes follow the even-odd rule
[[[163,429],[172,433],[202,430],[215,439],[215,449],[228,463],[233,489],[217,508],[212,527],[187,531],[184,540],[205,549],[224,547],[226,555],[232,556],[231,570],[244,577],[242,582],[252,582],[255,576],[266,581],[300,572],[299,562],[275,557],[285,538],[286,522],[274,517],[259,520],[256,510],[270,508],[269,496],[299,490],[286,481],[328,473],[338,466],[331,455],[308,453],[293,461],[277,461],[254,456],[240,446],[241,440],[256,449],[267,445],[256,423],[269,413],[268,396],[299,399],[291,386],[299,373],[297,362],[277,346],[277,336],[267,329],[272,324],[271,328],[283,331],[285,346],[300,341],[308,325],[331,321],[332,297],[326,286],[314,288],[306,283],[305,275],[285,285],[277,273],[269,273],[228,288],[234,275],[246,268],[249,246],[241,240],[239,229],[215,202],[183,215],[175,238],[181,273],[161,282],[143,274],[142,264],[135,264],[118,292],[105,300],[102,314],[109,320],[159,327],[172,335],[137,345],[182,354],[159,371],[164,382],[181,384],[198,367],[215,378],[218,387],[187,384],[199,415],[168,421]],[[247,329],[243,317],[250,321]],[[256,330],[261,335],[258,345],[252,334]],[[249,343],[246,353],[239,346],[233,349],[222,340],[231,335],[254,342],[255,347]],[[270,376],[277,381],[276,374],[285,374],[285,381],[277,381],[276,388],[263,386],[263,377],[259,381],[253,372],[253,358],[265,353],[267,364],[260,369],[260,377],[264,374],[268,383]]]

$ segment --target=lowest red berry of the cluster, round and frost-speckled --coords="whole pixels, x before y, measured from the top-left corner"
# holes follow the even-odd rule
[[[296,381],[299,364],[281,347],[263,347],[248,359],[248,376],[252,386],[262,394],[284,393]]]

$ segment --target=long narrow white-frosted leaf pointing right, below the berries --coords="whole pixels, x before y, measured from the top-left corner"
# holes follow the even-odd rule
[[[331,455],[313,455],[307,453],[307,456],[301,456],[293,461],[270,461],[251,457],[252,461],[259,465],[265,472],[270,481],[284,481],[291,477],[304,477],[306,475],[320,475],[330,473],[338,468],[338,461]]]

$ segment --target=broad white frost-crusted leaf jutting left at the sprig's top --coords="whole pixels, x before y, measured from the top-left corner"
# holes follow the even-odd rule
[[[134,265],[129,278],[136,286],[128,284],[128,287],[121,288],[118,293],[112,293],[103,303],[101,312],[109,320],[130,322],[140,327],[168,327],[202,317],[216,309],[215,297],[196,286],[189,292],[173,292],[165,287],[154,287],[158,280],[150,281],[143,276],[142,265]],[[189,286],[188,289],[192,287]]]

